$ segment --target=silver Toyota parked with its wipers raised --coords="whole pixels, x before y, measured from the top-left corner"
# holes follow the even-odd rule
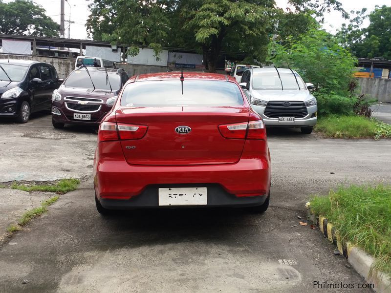
[[[300,75],[287,68],[247,69],[240,81],[253,109],[266,126],[300,127],[312,132],[317,122],[318,105]]]

